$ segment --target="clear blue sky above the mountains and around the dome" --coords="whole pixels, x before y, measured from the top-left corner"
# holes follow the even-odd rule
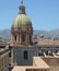
[[[11,28],[21,0],[0,0],[0,29]],[[24,0],[34,29],[59,28],[59,0]]]

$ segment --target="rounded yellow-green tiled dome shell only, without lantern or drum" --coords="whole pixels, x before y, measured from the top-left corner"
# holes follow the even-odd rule
[[[32,27],[32,22],[26,14],[17,14],[13,21],[12,27]]]

